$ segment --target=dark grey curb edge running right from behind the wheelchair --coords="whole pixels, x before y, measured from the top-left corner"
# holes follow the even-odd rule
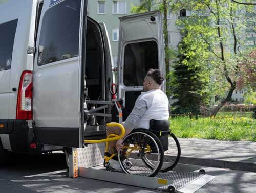
[[[168,157],[175,158],[175,156],[168,156]],[[184,156],[180,157],[179,163],[256,172],[255,163],[233,162],[233,161],[224,161],[224,160],[217,160],[217,159],[204,159],[204,158],[194,158],[194,157],[184,157]]]

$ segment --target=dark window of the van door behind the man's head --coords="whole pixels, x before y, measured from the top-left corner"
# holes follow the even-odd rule
[[[143,86],[144,77],[150,68],[158,68],[157,42],[131,43],[124,50],[125,86]]]

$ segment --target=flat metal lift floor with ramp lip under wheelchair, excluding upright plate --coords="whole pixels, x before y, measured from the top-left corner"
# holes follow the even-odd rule
[[[209,181],[214,179],[214,176],[205,175],[194,172],[184,172],[182,171],[182,165],[179,165],[178,170],[181,171],[169,171],[165,173],[159,173],[157,176],[146,177],[139,175],[129,175],[123,172],[109,172],[106,171],[103,165],[98,165],[91,168],[79,168],[79,176],[99,179],[114,183],[121,183],[126,185],[133,185],[151,189],[158,189],[166,191],[169,185],[173,185],[179,192],[193,193],[198,190],[203,185],[207,184]],[[184,165],[185,168],[189,165]],[[192,170],[195,166],[191,166]],[[138,167],[141,168],[141,167]],[[144,172],[144,171],[143,171]],[[139,173],[139,171],[138,171]],[[110,178],[111,176],[111,178]],[[158,180],[166,180],[166,184],[159,184]]]

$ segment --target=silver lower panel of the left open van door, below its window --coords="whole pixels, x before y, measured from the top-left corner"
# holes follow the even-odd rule
[[[34,120],[36,127],[79,127],[78,58],[35,66]]]

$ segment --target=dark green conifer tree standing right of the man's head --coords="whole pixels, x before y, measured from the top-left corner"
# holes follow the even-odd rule
[[[184,36],[186,37],[186,35]],[[184,39],[184,38],[183,38]],[[199,108],[202,104],[207,103],[208,83],[210,75],[200,65],[191,67],[188,62],[195,56],[189,55],[189,45],[182,39],[179,43],[178,60],[174,62],[172,73],[172,99],[178,101],[173,106],[178,108]],[[203,76],[202,76],[203,75]]]

